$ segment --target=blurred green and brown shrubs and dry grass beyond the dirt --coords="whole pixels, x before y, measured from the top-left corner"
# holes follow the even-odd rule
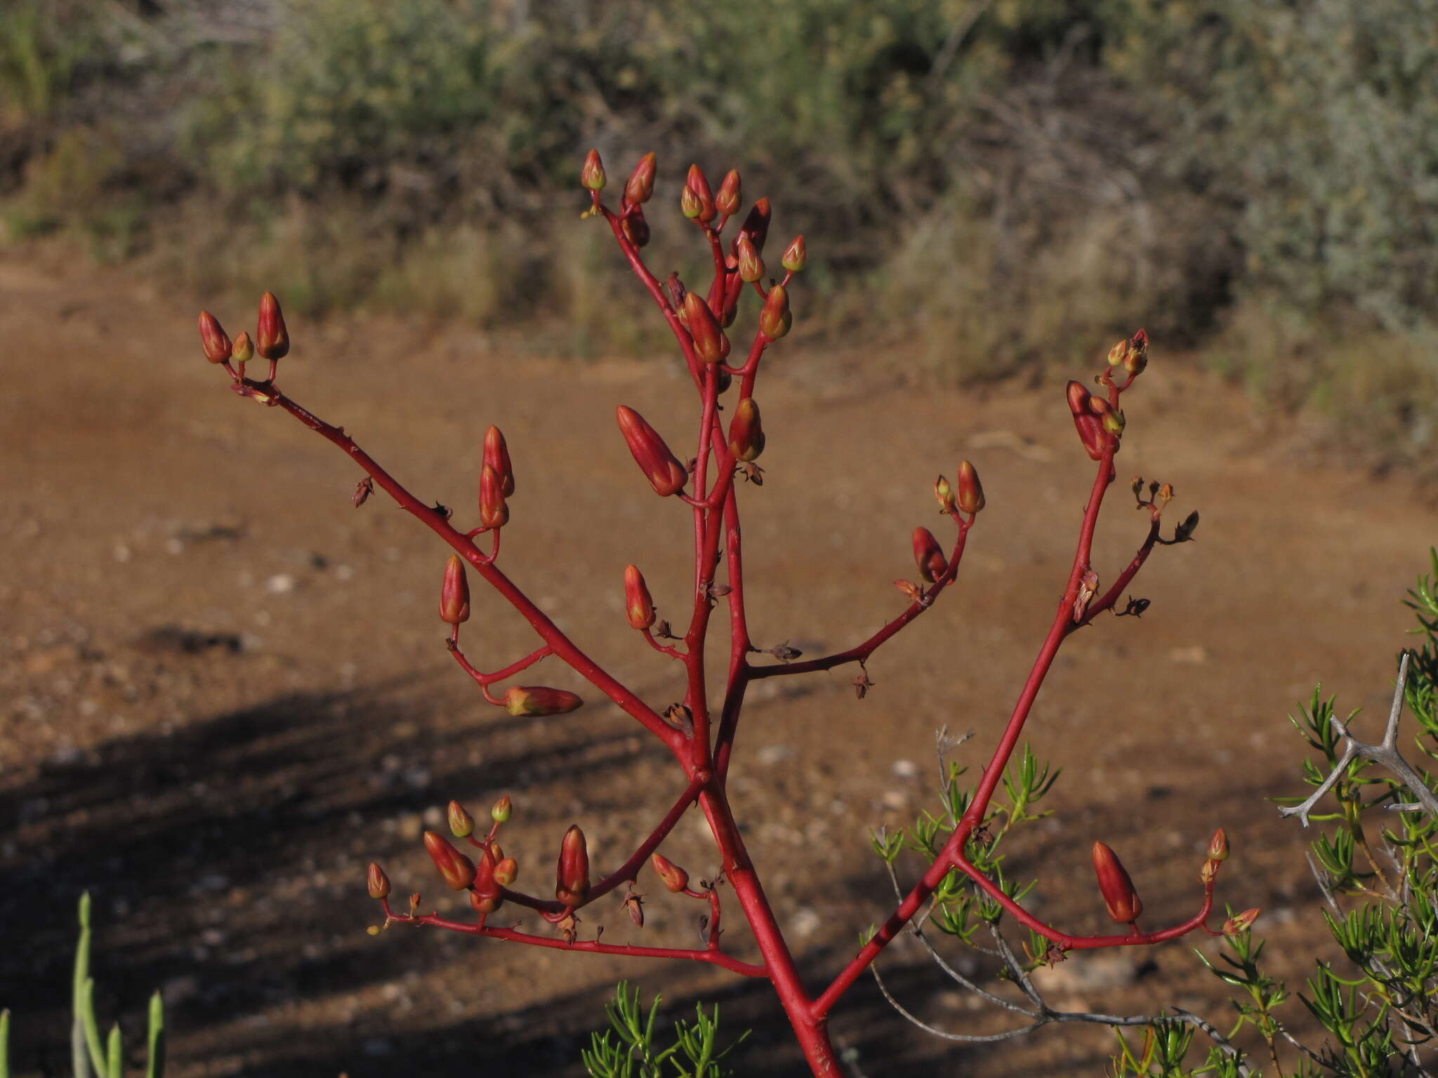
[[[207,299],[646,344],[577,220],[591,145],[615,178],[656,149],[660,206],[692,160],[741,167],[810,236],[820,339],[969,379],[1142,323],[1431,454],[1438,0],[0,9],[4,244]],[[683,267],[677,208],[650,217],[654,264]]]

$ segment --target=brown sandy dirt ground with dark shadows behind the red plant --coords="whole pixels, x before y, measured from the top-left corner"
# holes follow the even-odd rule
[[[633,286],[618,266],[614,283]],[[754,1026],[741,1074],[797,1074],[762,983],[437,931],[365,934],[371,858],[398,891],[460,911],[418,842],[449,798],[480,809],[510,793],[506,851],[542,891],[571,822],[597,868],[615,864],[676,796],[677,772],[604,703],[562,720],[487,706],[434,615],[444,550],[384,497],[351,507],[358,471],[341,453],[226,391],[200,355],[203,303],[121,272],[0,263],[0,1003],[16,1015],[17,1072],[69,1072],[73,910],[91,888],[101,1013],[138,1045],[161,987],[175,1078],[578,1075],[620,977],[663,989],[666,1013],[709,999],[726,1028]],[[519,482],[505,569],[650,701],[679,699],[673,664],[624,622],[621,572],[637,561],[661,617],[683,619],[689,515],[653,496],[613,420],[624,402],[672,437],[686,430],[692,392],[669,358],[578,364],[358,316],[290,333],[285,390],[462,519],[480,437],[499,423]],[[784,342],[759,392],[766,483],[743,492],[756,641],[807,654],[902,609],[892,581],[913,575],[913,526],[935,523],[936,473],[971,457],[988,492],[959,588],[876,655],[869,699],[851,668],[752,694],[733,799],[814,985],[892,906],[869,829],[936,806],[935,730],[974,732],[959,749],[974,773],[986,759],[1063,591],[1091,476],[1061,378],[916,388],[886,375],[894,359],[874,369]],[[1097,359],[1076,358],[1071,375]],[[1009,868],[1043,877],[1035,911],[1097,931],[1087,857],[1103,838],[1152,923],[1172,923],[1195,908],[1201,851],[1222,824],[1234,855],[1221,901],[1265,908],[1274,972],[1297,987],[1323,933],[1304,835],[1265,801],[1304,789],[1284,716],[1323,681],[1340,707],[1369,709],[1359,729],[1376,726],[1409,625],[1401,598],[1438,515],[1408,477],[1316,456],[1162,342],[1126,401],[1120,479],[1172,482],[1173,520],[1196,507],[1202,525],[1139,578],[1135,594],[1153,601],[1142,621],[1104,618],[1066,645],[1028,733],[1064,769],[1054,815],[1015,838]],[[1110,579],[1143,533],[1123,483],[1112,506],[1097,545]],[[493,668],[532,645],[476,589],[469,655]],[[535,680],[581,687],[552,661]],[[686,819],[666,851],[705,875],[703,838]],[[692,904],[641,883],[643,934],[617,897],[587,930],[690,946]],[[736,908],[726,921],[729,946],[752,956]],[[945,1029],[1012,1023],[912,940],[880,967]],[[1188,943],[1080,956],[1047,985],[1061,1006],[1231,1013]],[[899,1021],[869,979],[834,1032],[869,1078],[1102,1074],[1113,1044],[1096,1028],[945,1044]]]

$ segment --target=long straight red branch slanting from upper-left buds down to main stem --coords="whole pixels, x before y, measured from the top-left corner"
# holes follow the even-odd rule
[[[510,581],[498,566],[492,565],[479,552],[475,543],[464,538],[463,532],[457,532],[450,526],[449,520],[441,513],[437,513],[434,509],[424,505],[414,497],[414,494],[406,490],[388,471],[380,467],[380,464],[368,453],[361,450],[360,446],[355,444],[355,440],[345,434],[342,427],[332,427],[318,415],[292,401],[270,384],[260,385],[244,382],[242,388],[246,394],[257,390],[259,394],[266,398],[266,402],[282,407],[312,431],[342,448],[361,469],[365,470],[365,473],[381,490],[398,502],[401,509],[418,517],[430,530],[439,535],[462,558],[473,565],[485,582],[498,591],[509,602],[509,605],[519,611],[521,617],[529,622],[533,631],[539,634],[539,638],[549,645],[555,655],[568,663],[575,673],[587,678],[595,688],[618,704],[620,709],[637,719],[646,729],[669,746],[670,752],[676,756],[682,756],[684,739],[674,727],[666,723],[649,704],[640,700],[638,696],[614,680],[608,671],[581,651],[574,641],[569,640],[564,631],[559,630],[559,627],[555,625],[545,615],[545,612],[533,604],[528,595],[515,586],[513,581]]]

